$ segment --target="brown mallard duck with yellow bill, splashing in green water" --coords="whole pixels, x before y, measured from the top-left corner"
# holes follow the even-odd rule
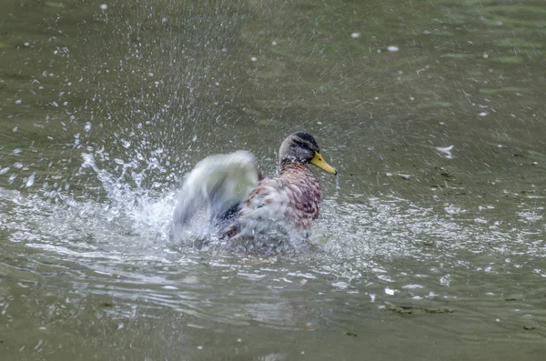
[[[183,231],[203,210],[219,236],[228,241],[279,228],[308,230],[319,217],[321,191],[307,164],[338,173],[320,155],[315,138],[303,132],[288,135],[280,145],[277,178],[259,176],[256,159],[247,151],[207,156],[185,177],[174,231]]]

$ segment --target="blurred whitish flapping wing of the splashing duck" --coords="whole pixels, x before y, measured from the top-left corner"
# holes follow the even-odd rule
[[[247,151],[210,155],[186,175],[173,221],[184,229],[200,212],[217,226],[236,215],[239,205],[258,186],[256,158]]]

